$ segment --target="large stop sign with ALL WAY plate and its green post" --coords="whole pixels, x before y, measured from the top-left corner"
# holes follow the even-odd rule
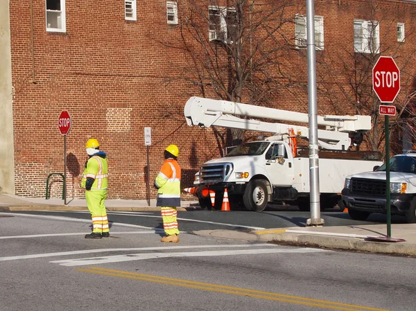
[[[400,70],[392,57],[380,56],[372,69],[373,89],[381,103],[393,103],[400,91]],[[379,106],[385,127],[385,207],[387,209],[387,236],[392,237],[390,202],[390,125],[389,116],[395,116],[396,107]]]

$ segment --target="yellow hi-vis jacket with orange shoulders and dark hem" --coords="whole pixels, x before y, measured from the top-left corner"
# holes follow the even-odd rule
[[[155,179],[156,206],[180,206],[180,166],[174,159],[166,159]]]

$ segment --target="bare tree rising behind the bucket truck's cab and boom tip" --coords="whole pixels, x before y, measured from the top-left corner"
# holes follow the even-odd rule
[[[182,39],[162,44],[185,62],[180,70],[173,64],[178,74],[167,83],[183,80],[189,95],[250,105],[275,102],[280,90],[298,84],[285,55],[293,48],[296,1],[188,0],[178,10]],[[239,143],[243,131],[232,130],[232,139]]]

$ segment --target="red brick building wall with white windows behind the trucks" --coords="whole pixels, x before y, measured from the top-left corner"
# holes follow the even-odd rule
[[[162,163],[163,150],[171,143],[180,147],[182,186],[191,185],[198,166],[218,157],[232,144],[232,137],[226,130],[188,127],[183,107],[190,96],[219,98],[214,82],[205,75],[207,66],[199,67],[197,62],[205,60],[201,46],[209,46],[209,51],[219,47],[227,51],[224,46],[233,46],[232,31],[239,14],[254,18],[254,12],[257,17],[266,10],[275,10],[275,16],[284,12],[275,21],[278,27],[271,21],[268,24],[278,29],[279,35],[266,40],[268,51],[273,44],[281,48],[257,68],[264,72],[268,65],[268,76],[261,80],[268,83],[267,96],[255,102],[259,87],[248,87],[243,89],[241,100],[307,112],[305,1],[277,1],[277,8],[276,1],[264,0],[266,6],[250,7],[249,1],[240,0],[247,2],[241,6],[243,13],[233,2],[236,0],[0,0],[3,192],[43,197],[46,178],[63,172],[64,140],[58,130],[63,110],[72,120],[66,154],[68,197],[83,197],[79,184],[86,160],[85,142],[96,138],[109,159],[108,197],[145,199],[144,127],[152,129],[150,186]],[[196,12],[200,13],[199,21],[195,21]],[[396,104],[404,105],[415,91],[415,15],[416,1],[315,0],[320,114],[376,117],[374,109],[363,107],[361,102],[372,103],[368,64],[374,64],[380,53],[395,57],[401,69],[402,87]],[[194,36],[197,28],[189,30],[195,24],[202,37]],[[268,34],[267,27],[256,31],[250,37],[250,48],[256,48],[253,42]],[[373,56],[372,63],[363,61]],[[358,67],[366,78],[365,74],[358,77]],[[351,73],[356,73],[354,80]],[[220,73],[220,77],[229,77],[229,72]],[[201,87],[198,79],[208,82],[201,82]],[[230,87],[230,82],[225,85]],[[372,148],[369,142],[364,145]],[[62,194],[62,179],[51,178],[50,186],[52,196]],[[150,191],[154,197],[154,190]]]

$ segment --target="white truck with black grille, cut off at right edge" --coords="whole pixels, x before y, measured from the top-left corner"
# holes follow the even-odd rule
[[[385,163],[374,172],[361,172],[345,179],[343,203],[354,220],[371,213],[387,213]],[[416,222],[416,153],[397,154],[390,159],[390,212]]]

